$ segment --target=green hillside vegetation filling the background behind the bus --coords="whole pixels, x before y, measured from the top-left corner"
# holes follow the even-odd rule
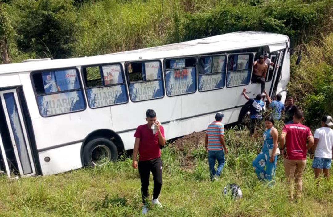
[[[291,40],[289,94],[333,113],[333,0],[0,0],[0,63],[93,56],[239,30]],[[322,51],[323,49],[323,51]],[[300,66],[294,65],[302,54]]]

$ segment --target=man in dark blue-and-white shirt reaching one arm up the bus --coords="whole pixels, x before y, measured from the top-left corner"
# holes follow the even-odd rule
[[[246,92],[246,88],[243,89],[242,94],[245,97],[245,99],[247,99],[251,104],[251,108],[250,108],[250,115],[251,115],[250,135],[253,135],[256,126],[258,125],[258,123],[262,119],[262,108],[264,107],[265,104],[262,101],[263,96],[261,94],[257,94],[257,96],[254,99],[250,99],[246,95],[245,92]]]

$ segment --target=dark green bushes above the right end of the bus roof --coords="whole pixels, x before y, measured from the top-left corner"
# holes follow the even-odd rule
[[[291,40],[306,39],[319,26],[330,1],[304,4],[303,1],[269,1],[217,7],[206,13],[186,13],[182,40],[197,39],[239,30],[257,30],[288,35]],[[256,6],[253,6],[256,5]],[[311,31],[310,31],[311,30]]]

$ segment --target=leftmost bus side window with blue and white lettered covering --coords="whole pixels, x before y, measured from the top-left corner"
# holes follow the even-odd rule
[[[76,69],[32,74],[37,104],[42,116],[52,116],[86,108]]]

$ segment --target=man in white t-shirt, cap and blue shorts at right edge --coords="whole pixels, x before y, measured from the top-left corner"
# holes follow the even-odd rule
[[[330,168],[332,164],[332,151],[333,151],[333,126],[332,117],[329,115],[323,116],[321,119],[320,128],[316,129],[314,133],[314,146],[315,150],[312,168],[314,168],[315,177],[317,178],[320,173],[329,179]]]

